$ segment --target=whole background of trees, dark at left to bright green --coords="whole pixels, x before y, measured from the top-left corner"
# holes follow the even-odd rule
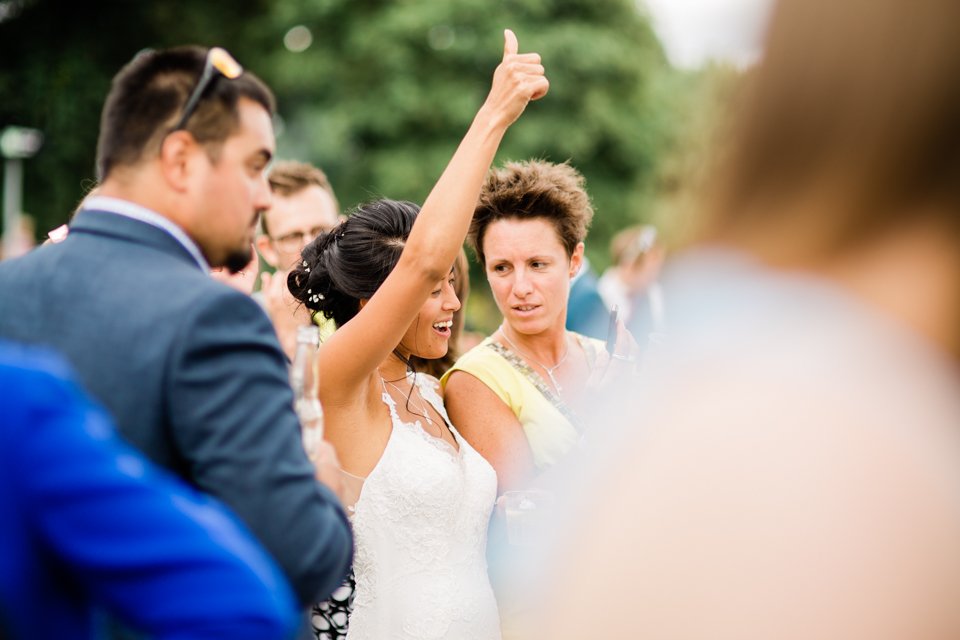
[[[298,25],[312,43],[295,52],[284,37]],[[504,27],[543,56],[551,89],[498,162],[582,171],[588,254],[603,267],[610,236],[651,217],[658,160],[683,124],[677,94],[695,84],[677,79],[636,0],[0,0],[0,126],[46,136],[24,197],[44,232],[93,184],[113,74],[143,48],[218,44],[277,94],[280,155],[323,167],[345,207],[420,202],[486,95]]]

